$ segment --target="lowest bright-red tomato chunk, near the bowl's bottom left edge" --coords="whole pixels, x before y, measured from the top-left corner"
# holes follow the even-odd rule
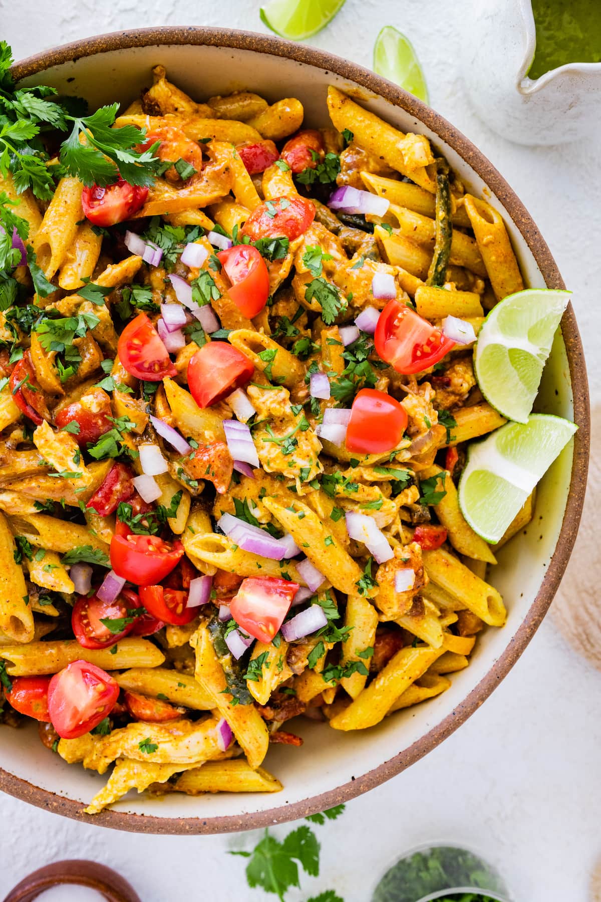
[[[111,713],[118,695],[116,680],[101,667],[71,661],[50,680],[50,721],[63,739],[77,739]]]

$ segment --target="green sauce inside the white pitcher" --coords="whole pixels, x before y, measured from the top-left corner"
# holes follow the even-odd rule
[[[601,62],[601,0],[532,0],[536,51],[530,78],[568,62]]]

